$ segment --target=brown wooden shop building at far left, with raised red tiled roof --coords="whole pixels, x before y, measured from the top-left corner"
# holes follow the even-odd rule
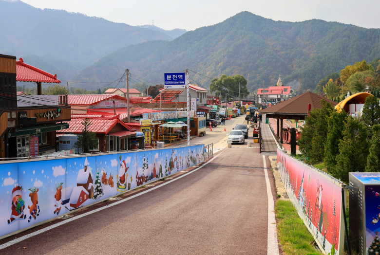
[[[56,152],[56,131],[71,120],[65,95],[41,95],[41,84],[60,83],[57,74],[24,63],[22,58],[0,55],[1,158],[41,156]],[[35,82],[38,95],[16,92],[16,82]]]

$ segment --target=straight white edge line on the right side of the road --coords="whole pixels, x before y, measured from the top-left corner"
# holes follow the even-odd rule
[[[266,181],[266,194],[268,195],[268,240],[267,240],[267,255],[279,255],[278,242],[277,242],[277,227],[276,217],[274,216],[274,200],[272,197],[272,190],[270,188],[270,182],[268,172],[266,169],[265,156],[263,155],[264,173]]]

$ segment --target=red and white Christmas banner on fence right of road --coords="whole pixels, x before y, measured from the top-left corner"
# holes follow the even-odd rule
[[[277,149],[277,167],[289,199],[326,254],[343,254],[342,186],[328,174]]]

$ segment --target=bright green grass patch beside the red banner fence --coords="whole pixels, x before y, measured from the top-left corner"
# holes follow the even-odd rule
[[[317,244],[291,201],[277,200],[275,212],[278,220],[278,238],[284,254],[322,255],[315,249]]]

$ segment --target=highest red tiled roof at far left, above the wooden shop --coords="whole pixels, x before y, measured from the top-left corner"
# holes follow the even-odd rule
[[[16,81],[60,83],[57,74],[46,73],[34,66],[24,63],[22,58],[16,61]]]

